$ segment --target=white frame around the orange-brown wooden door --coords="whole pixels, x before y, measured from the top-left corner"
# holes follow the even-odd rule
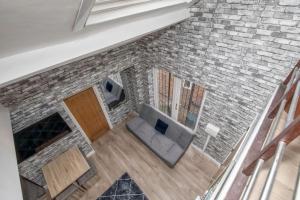
[[[92,141],[91,141],[90,138],[87,136],[87,134],[85,133],[85,131],[82,129],[82,127],[81,127],[80,124],[78,123],[77,119],[74,117],[74,115],[72,114],[71,110],[69,109],[69,107],[68,107],[67,104],[65,103],[65,99],[67,99],[67,98],[69,98],[69,97],[71,97],[71,96],[74,96],[74,95],[76,95],[76,94],[78,94],[78,93],[80,93],[80,92],[83,92],[83,91],[85,91],[85,90],[87,90],[87,89],[89,89],[89,88],[92,88],[92,89],[93,89],[93,91],[94,91],[94,93],[95,93],[95,95],[96,95],[96,98],[97,98],[97,100],[98,100],[98,103],[99,103],[99,105],[100,105],[100,107],[101,107],[101,109],[102,109],[102,111],[103,111],[103,114],[104,114],[104,116],[105,116],[105,119],[106,119],[106,121],[107,121],[107,123],[108,123],[108,126],[109,126],[110,129],[112,129],[112,128],[113,128],[113,125],[112,125],[112,123],[111,123],[111,121],[110,121],[108,112],[107,112],[107,110],[106,110],[106,108],[105,108],[105,106],[104,106],[104,103],[103,103],[103,101],[102,101],[101,95],[100,95],[100,93],[99,93],[99,91],[98,91],[98,89],[97,89],[96,86],[91,86],[91,87],[87,87],[87,88],[81,89],[81,90],[77,91],[75,94],[72,94],[72,95],[70,95],[70,96],[65,97],[65,98],[63,99],[63,101],[62,101],[62,106],[63,106],[63,108],[65,109],[65,111],[67,112],[67,114],[69,115],[69,117],[71,118],[72,122],[75,124],[75,126],[76,126],[76,127],[78,128],[78,130],[80,131],[81,135],[83,135],[83,137],[85,138],[85,140],[91,145],[91,144],[92,144]]]

